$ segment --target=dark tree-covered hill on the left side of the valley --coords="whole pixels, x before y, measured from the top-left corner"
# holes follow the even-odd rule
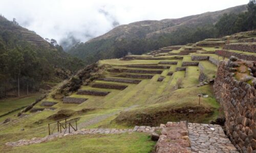
[[[0,16],[0,98],[10,91],[38,91],[42,82],[62,81],[83,66],[55,40],[48,42]]]

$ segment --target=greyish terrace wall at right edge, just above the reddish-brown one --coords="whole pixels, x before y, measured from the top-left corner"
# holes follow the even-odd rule
[[[241,50],[244,52],[256,53],[256,44],[250,43],[230,43],[224,45],[223,49],[228,50]]]

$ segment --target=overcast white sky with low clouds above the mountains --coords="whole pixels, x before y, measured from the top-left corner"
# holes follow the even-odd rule
[[[0,0],[0,14],[58,42],[74,36],[87,41],[118,24],[161,20],[222,10],[249,0]]]

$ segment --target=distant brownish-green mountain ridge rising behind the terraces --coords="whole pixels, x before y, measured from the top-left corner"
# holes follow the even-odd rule
[[[223,14],[240,13],[246,9],[246,5],[241,5],[178,19],[145,20],[119,25],[104,35],[77,43],[68,50],[68,53],[89,64],[99,59],[120,58],[129,52],[142,54],[163,46],[196,42],[214,37],[210,27]],[[204,31],[199,31],[199,28]],[[197,30],[204,34],[195,34]]]

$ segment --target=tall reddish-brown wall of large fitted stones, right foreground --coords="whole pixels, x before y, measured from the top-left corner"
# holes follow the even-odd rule
[[[241,152],[255,152],[256,90],[236,80],[229,70],[228,63],[221,61],[214,84],[216,98],[225,114],[227,136]]]

